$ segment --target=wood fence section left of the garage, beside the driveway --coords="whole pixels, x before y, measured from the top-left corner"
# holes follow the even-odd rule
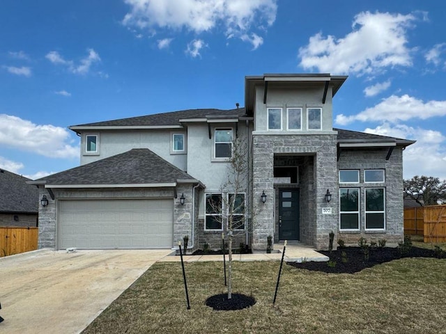
[[[38,228],[0,228],[0,257],[37,249]]]

